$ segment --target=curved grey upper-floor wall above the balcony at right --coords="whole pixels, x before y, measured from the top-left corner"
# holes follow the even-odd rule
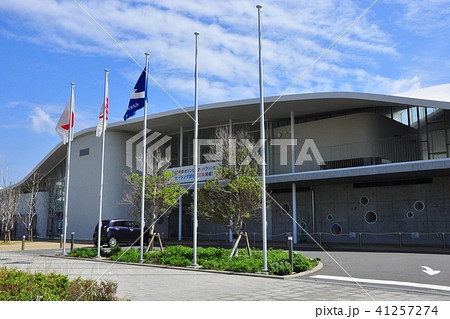
[[[394,136],[412,135],[416,131],[380,114],[357,113],[295,124],[294,133],[297,139],[296,159],[305,139],[312,139],[324,161],[327,162],[363,157],[387,158],[389,155],[378,146],[377,141]],[[273,137],[290,139],[291,127],[275,128]],[[398,148],[397,145],[394,147]],[[287,165],[280,165],[280,150],[278,146],[272,149],[274,174],[291,172],[291,148],[288,148]],[[308,153],[311,154],[311,152]],[[312,159],[313,162],[297,165],[296,171],[318,170],[319,166],[314,157]]]

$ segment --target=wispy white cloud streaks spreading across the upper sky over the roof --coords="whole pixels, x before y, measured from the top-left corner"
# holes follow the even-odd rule
[[[157,73],[155,78],[169,92],[182,97],[193,93],[193,32],[199,31],[202,102],[257,96],[255,3],[241,0],[220,4],[210,0],[78,2],[132,56],[140,57],[149,51],[150,65],[157,69],[150,73]],[[398,19],[398,25],[402,21],[413,25],[417,20],[425,25],[448,13],[444,10],[448,1],[431,2],[443,8],[443,13],[432,10],[430,1],[426,1],[428,7],[420,1],[395,2],[405,11],[403,15],[397,14],[397,18],[403,17]],[[277,95],[362,13],[369,2],[280,0],[261,1],[261,4],[265,92]],[[20,27],[9,32],[22,40],[72,54],[126,56],[72,0],[2,0],[0,12],[12,14],[11,25],[16,23],[17,17],[21,18],[27,32]],[[421,13],[424,16],[419,18]],[[289,93],[343,88],[388,93],[397,86],[415,88],[419,85],[417,74],[380,75],[380,59],[395,61],[403,54],[381,21],[374,12],[369,12]]]

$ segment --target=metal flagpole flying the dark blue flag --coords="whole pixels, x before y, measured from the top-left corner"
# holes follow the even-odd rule
[[[144,213],[145,213],[145,169],[147,166],[147,80],[148,80],[148,65],[150,53],[145,52],[145,101],[144,101],[144,131],[142,132],[142,194],[141,194],[141,258],[140,262],[144,262]]]

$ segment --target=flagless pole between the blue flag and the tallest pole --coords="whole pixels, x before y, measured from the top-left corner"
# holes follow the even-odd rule
[[[197,217],[197,184],[198,184],[198,36],[200,33],[194,32],[195,35],[195,125],[194,125],[194,231],[193,231],[193,255],[194,261],[192,266],[196,267],[197,264],[197,228],[198,228],[198,217]]]

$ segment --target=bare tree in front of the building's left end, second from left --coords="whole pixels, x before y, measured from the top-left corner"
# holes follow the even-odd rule
[[[20,220],[27,229],[27,237],[29,241],[33,241],[34,222],[36,219],[37,195],[42,181],[43,175],[39,172],[34,172],[27,180],[24,186],[24,193],[29,194],[26,203],[26,214],[19,214]]]

